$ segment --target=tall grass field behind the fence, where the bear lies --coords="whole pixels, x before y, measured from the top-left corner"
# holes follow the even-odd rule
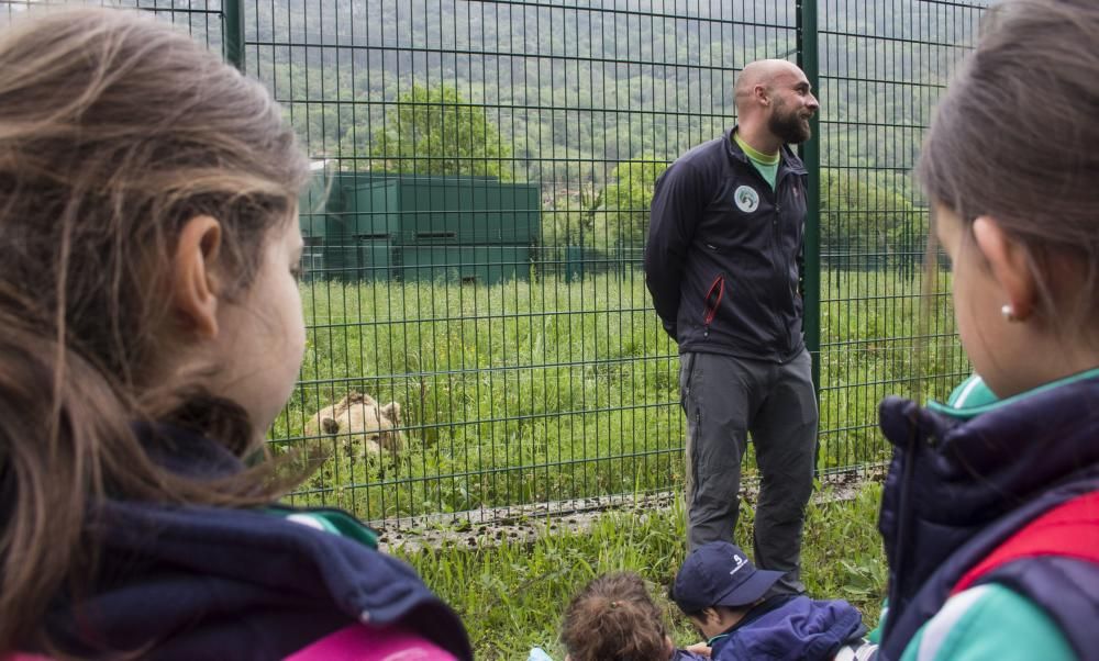
[[[937,396],[965,373],[950,310],[921,317],[919,281],[891,271],[823,278],[822,469],[880,461],[877,403]],[[309,347],[271,430],[276,451],[331,455],[296,497],[379,520],[678,489],[684,423],[676,347],[640,271],[496,285],[302,284]],[[924,318],[926,350],[913,336]],[[347,438],[302,438],[349,390],[402,406],[407,448],[371,457]],[[752,470],[752,459],[746,470]]]

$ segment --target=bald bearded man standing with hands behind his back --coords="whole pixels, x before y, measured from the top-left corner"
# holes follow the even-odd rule
[[[819,109],[806,75],[776,59],[736,81],[739,124],[656,182],[645,280],[679,344],[687,414],[687,537],[733,538],[748,434],[759,467],[755,560],[801,593],[817,397],[799,290],[807,172],[788,145]]]

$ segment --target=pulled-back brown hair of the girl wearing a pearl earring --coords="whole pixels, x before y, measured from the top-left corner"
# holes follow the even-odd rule
[[[989,12],[990,30],[939,104],[918,175],[966,236],[990,215],[1025,245],[1042,318],[1099,341],[1099,3],[1018,0]]]

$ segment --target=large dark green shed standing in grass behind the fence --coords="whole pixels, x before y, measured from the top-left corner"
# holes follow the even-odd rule
[[[540,191],[491,177],[318,176],[301,199],[311,277],[499,282],[526,278]]]

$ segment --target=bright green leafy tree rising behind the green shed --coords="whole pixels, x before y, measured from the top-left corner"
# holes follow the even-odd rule
[[[371,136],[370,169],[417,175],[474,175],[511,180],[511,147],[488,121],[445,85],[398,97],[386,126]]]

